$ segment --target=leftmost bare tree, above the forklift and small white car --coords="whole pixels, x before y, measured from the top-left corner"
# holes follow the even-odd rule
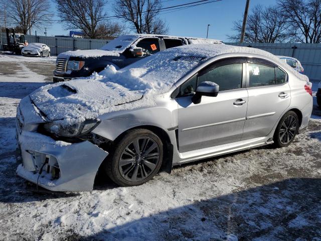
[[[19,26],[24,34],[30,33],[34,27],[50,25],[53,14],[48,11],[48,6],[49,0],[1,0],[8,22]]]

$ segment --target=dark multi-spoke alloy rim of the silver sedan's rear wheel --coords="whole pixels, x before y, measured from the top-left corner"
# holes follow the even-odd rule
[[[282,144],[286,145],[291,142],[295,136],[297,128],[297,121],[295,116],[287,116],[279,130],[279,140]]]

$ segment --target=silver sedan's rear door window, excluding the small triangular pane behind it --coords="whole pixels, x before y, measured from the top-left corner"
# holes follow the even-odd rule
[[[249,63],[248,66],[250,87],[275,84],[274,67],[253,63]]]

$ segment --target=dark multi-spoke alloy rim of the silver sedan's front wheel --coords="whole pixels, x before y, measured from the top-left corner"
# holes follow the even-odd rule
[[[149,137],[138,137],[127,145],[119,158],[118,168],[127,181],[147,178],[159,162],[159,146]]]

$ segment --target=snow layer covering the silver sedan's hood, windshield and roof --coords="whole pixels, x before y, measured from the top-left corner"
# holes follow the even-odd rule
[[[263,50],[200,44],[161,51],[120,70],[107,66],[99,74],[87,78],[46,85],[31,93],[30,98],[48,121],[95,118],[107,112],[153,106],[158,94],[168,92],[173,84],[200,62],[225,53],[269,56],[301,80],[307,79]]]

